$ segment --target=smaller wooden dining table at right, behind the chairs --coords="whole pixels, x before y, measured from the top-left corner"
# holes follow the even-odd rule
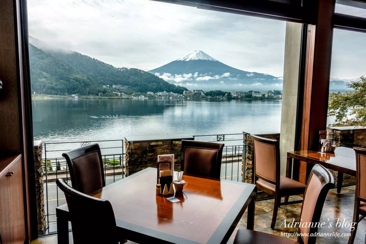
[[[287,153],[286,177],[292,177],[292,161],[298,159],[310,164],[321,164],[338,172],[337,192],[341,192],[343,174],[356,176],[355,151],[349,147],[337,147],[334,153],[321,153],[318,150],[302,150]],[[295,171],[295,170],[294,170]]]

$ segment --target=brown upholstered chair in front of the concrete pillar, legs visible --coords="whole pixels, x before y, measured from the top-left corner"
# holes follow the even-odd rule
[[[280,175],[280,144],[278,140],[250,136],[253,138],[254,146],[254,182],[259,190],[275,196],[271,223],[273,229],[279,206],[301,203],[302,200],[288,202],[288,196],[304,194],[306,185]],[[281,203],[282,197],[285,197],[283,203]]]

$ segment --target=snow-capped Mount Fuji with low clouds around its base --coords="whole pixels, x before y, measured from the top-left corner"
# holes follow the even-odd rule
[[[249,72],[221,63],[195,50],[161,67],[148,71],[175,85],[204,90],[282,90],[282,77]]]

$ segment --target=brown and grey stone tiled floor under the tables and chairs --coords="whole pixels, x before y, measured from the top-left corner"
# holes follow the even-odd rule
[[[327,228],[320,228],[320,233],[350,233],[349,228],[345,227],[336,227],[337,219],[339,218],[341,221],[343,219],[346,222],[352,222],[353,216],[353,206],[354,206],[354,195],[355,187],[344,187],[342,188],[341,194],[337,194],[336,189],[332,189],[329,191],[328,196],[325,200],[325,204],[323,207],[322,215],[320,217],[321,222],[333,222],[330,227],[327,225]],[[292,200],[297,199],[298,197],[293,197]],[[300,198],[299,198],[300,199]],[[291,200],[291,198],[290,198]],[[272,211],[273,211],[274,200],[264,200],[257,202],[255,204],[255,230],[272,233],[276,235],[280,235],[281,232],[293,233],[297,232],[295,228],[280,228],[280,225],[283,223],[286,218],[287,221],[292,221],[292,218],[295,218],[295,221],[298,221],[301,210],[301,203],[292,204],[287,206],[281,206],[278,215],[276,228],[272,230],[270,228],[270,223],[272,219]],[[234,233],[230,237],[228,244],[233,243],[236,231],[238,228],[246,228],[246,217],[247,214],[244,213],[243,217],[240,219],[239,224],[236,226]],[[355,244],[363,244],[366,243],[366,219],[363,219],[358,226],[356,233]],[[347,243],[348,237],[318,237],[318,244],[340,244]],[[39,238],[37,240],[32,241],[32,244],[56,244],[57,237],[48,236],[44,238]],[[72,243],[72,238],[70,235],[70,243]]]

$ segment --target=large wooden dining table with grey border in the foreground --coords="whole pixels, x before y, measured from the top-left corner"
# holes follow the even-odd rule
[[[117,235],[137,243],[227,243],[246,209],[253,230],[254,184],[184,175],[188,185],[172,203],[172,195],[156,195],[156,177],[156,169],[147,168],[93,194],[111,202]],[[56,217],[58,243],[68,243],[67,204],[57,207]]]

